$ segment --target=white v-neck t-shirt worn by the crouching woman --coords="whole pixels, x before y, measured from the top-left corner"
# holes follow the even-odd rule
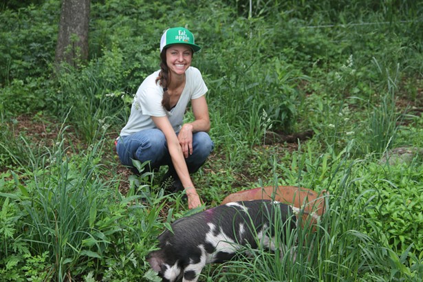
[[[151,116],[168,116],[175,132],[180,131],[188,102],[203,96],[208,91],[201,72],[195,67],[188,67],[185,72],[185,87],[180,100],[171,111],[166,111],[162,106],[163,88],[160,86],[160,81],[155,83],[159,73],[160,70],[154,72],[141,83],[133,98],[131,115],[127,125],[120,131],[120,136],[131,135],[144,129],[157,128]]]

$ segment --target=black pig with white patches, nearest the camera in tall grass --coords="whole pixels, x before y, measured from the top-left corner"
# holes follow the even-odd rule
[[[276,216],[276,212],[280,213]],[[279,236],[296,228],[299,209],[269,200],[231,202],[171,224],[173,232],[159,235],[159,248],[147,260],[163,281],[195,282],[207,263],[222,263],[242,246],[274,250],[274,219],[280,219]]]

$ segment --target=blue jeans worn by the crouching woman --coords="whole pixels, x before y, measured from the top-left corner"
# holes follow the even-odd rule
[[[198,171],[206,162],[208,155],[213,152],[214,147],[208,133],[203,131],[193,133],[193,154],[185,159],[189,173]],[[141,163],[149,161],[151,171],[164,165],[169,166],[169,171],[174,171],[166,138],[160,129],[146,129],[120,137],[116,151],[120,162],[124,166],[131,167],[134,172],[136,169],[133,167],[132,160],[139,160]]]

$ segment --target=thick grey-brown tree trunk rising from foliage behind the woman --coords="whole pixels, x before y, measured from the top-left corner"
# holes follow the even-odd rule
[[[58,27],[56,63],[77,66],[88,58],[88,28],[91,0],[62,0]]]

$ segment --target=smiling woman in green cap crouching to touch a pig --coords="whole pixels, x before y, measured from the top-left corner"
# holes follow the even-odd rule
[[[164,32],[161,69],[138,88],[116,145],[125,166],[133,168],[132,160],[149,161],[151,171],[169,166],[166,175],[173,178],[176,190],[184,189],[188,208],[202,204],[189,173],[204,164],[214,146],[207,133],[210,118],[204,94],[208,89],[199,70],[191,67],[193,53],[200,49],[186,28]],[[195,120],[183,124],[190,101]]]

